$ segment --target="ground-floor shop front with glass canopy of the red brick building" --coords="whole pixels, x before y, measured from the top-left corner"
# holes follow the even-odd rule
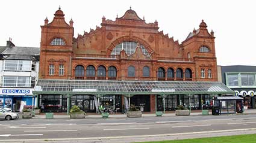
[[[234,95],[219,82],[98,80],[39,80],[33,93],[45,111],[67,113],[73,105],[85,112],[124,112],[131,105],[143,112],[172,111],[178,105],[210,109],[213,97]]]

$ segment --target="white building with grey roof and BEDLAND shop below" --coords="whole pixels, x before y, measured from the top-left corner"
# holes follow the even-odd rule
[[[22,101],[37,105],[32,92],[38,80],[40,48],[16,47],[7,41],[0,53],[0,107],[19,111]]]

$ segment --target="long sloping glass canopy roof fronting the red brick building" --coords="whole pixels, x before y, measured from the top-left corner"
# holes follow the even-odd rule
[[[177,95],[233,94],[220,82],[39,80],[34,94]]]

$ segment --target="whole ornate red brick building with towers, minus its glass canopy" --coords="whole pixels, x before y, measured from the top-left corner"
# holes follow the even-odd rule
[[[181,44],[169,38],[168,34],[164,35],[163,31],[158,31],[157,21],[146,23],[144,18],[141,19],[131,9],[127,10],[122,17],[116,17],[114,21],[102,17],[101,27],[97,26],[95,30],[91,29],[89,33],[84,32],[76,38],[73,37],[73,20],[66,23],[64,13],[60,8],[55,12],[52,22],[49,23],[46,18],[45,25],[41,28],[39,72],[41,80],[38,86],[40,82],[51,80],[61,82],[93,80],[110,83],[111,81],[159,81],[173,84],[202,83],[191,81],[215,83],[214,81],[217,81],[214,33],[208,32],[204,20],[200,23],[199,29],[194,29]],[[170,88],[167,87],[167,89]],[[193,107],[199,109],[204,105],[199,101],[204,100],[210,107],[212,97],[222,94],[220,92],[204,93],[204,95],[209,95],[206,99],[202,93],[186,96],[190,95],[189,90],[176,93],[176,95],[172,91],[172,96],[169,96],[166,90],[163,90],[166,92],[164,94],[161,94],[162,90],[157,90],[159,94],[142,92],[143,96],[129,93],[126,94],[129,96],[125,96],[123,93],[116,93],[118,97],[110,92],[98,94],[96,90],[95,93],[92,91],[87,93],[88,90],[80,89],[81,93],[65,92],[63,94],[58,90],[51,90],[52,92],[45,90],[45,93],[42,93],[43,90],[35,92],[36,95],[40,95],[39,105],[45,102],[48,104],[49,101],[57,101],[60,98],[64,99],[64,102],[61,101],[62,103],[58,102],[55,105],[66,105],[68,110],[71,103],[80,105],[85,111],[95,111],[94,107],[97,104],[121,111],[124,108],[122,105],[125,105],[125,100],[127,101],[125,97],[129,98],[129,105],[134,104],[143,111],[152,112],[163,108],[172,110],[179,104],[188,107],[186,103],[191,97],[195,102]],[[49,93],[50,95],[47,95]],[[51,94],[59,94],[60,97]],[[157,98],[157,95],[164,96]],[[173,98],[173,95],[176,97]],[[108,97],[104,98],[105,96]],[[164,98],[168,101],[164,101]],[[98,100],[97,103],[96,100]],[[114,105],[117,102],[118,105]],[[158,109],[159,104],[162,107]],[[170,106],[164,107],[166,104]],[[54,103],[49,105],[54,105]],[[189,105],[192,107],[191,103]],[[86,109],[88,106],[90,109]],[[66,107],[62,109],[66,111]]]

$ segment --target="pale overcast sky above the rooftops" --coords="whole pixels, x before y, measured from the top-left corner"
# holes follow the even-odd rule
[[[100,26],[102,16],[115,20],[131,8],[146,23],[157,20],[159,31],[181,43],[201,20],[214,31],[217,65],[256,65],[254,1],[1,1],[0,45],[9,37],[17,46],[40,47],[41,28],[52,21],[59,5],[66,22],[73,19],[75,38]]]

